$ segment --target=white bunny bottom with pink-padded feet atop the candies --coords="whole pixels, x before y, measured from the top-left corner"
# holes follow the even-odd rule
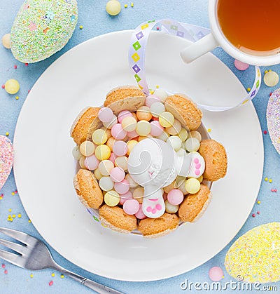
[[[159,218],[165,213],[162,188],[177,177],[199,178],[205,162],[198,152],[179,156],[171,145],[159,139],[141,140],[130,153],[128,171],[135,182],[144,187],[142,209],[148,218]]]

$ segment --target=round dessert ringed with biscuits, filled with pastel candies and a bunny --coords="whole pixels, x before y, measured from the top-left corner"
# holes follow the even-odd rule
[[[114,88],[104,107],[83,109],[71,127],[80,201],[102,225],[147,238],[200,218],[228,163],[195,102],[155,94]]]

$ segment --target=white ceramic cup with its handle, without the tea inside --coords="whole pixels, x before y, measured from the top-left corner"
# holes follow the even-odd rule
[[[246,0],[244,0],[246,1]],[[181,58],[184,62],[190,63],[193,60],[199,58],[205,53],[220,46],[225,52],[230,54],[233,58],[249,65],[276,65],[280,63],[280,53],[274,55],[262,56],[251,55],[240,51],[237,47],[232,45],[228,39],[226,39],[223,31],[218,22],[217,15],[218,0],[209,0],[209,22],[211,26],[211,33],[204,36],[199,41],[191,44],[183,51],[181,51]],[[262,21],[262,20],[260,20]],[[256,36],[257,37],[257,36]]]

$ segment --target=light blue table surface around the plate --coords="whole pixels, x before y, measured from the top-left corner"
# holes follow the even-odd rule
[[[173,0],[173,1],[160,1],[160,0],[133,0],[134,7],[131,6],[130,1],[120,0],[122,11],[116,17],[111,17],[106,13],[106,0],[78,0],[79,18],[78,25],[75,32],[68,44],[55,55],[52,55],[47,60],[37,62],[35,64],[25,66],[13,58],[13,55],[9,50],[3,48],[0,45],[0,85],[4,84],[8,79],[17,79],[20,82],[20,92],[18,93],[19,99],[15,99],[15,95],[8,95],[6,91],[0,88],[0,135],[9,133],[8,138],[13,140],[13,134],[15,131],[15,124],[18,119],[18,114],[22,104],[27,98],[29,89],[32,88],[38,77],[45,71],[45,69],[52,64],[54,60],[59,58],[60,55],[69,51],[70,48],[80,44],[81,42],[91,39],[94,36],[106,34],[108,32],[115,32],[123,29],[134,29],[141,22],[151,19],[161,18],[173,18],[180,22],[188,22],[194,25],[200,25],[209,27],[208,21],[208,1],[207,0]],[[125,8],[127,4],[127,8]],[[0,37],[3,34],[10,32],[10,28],[13,25],[13,20],[17,14],[22,0],[1,0],[0,1]],[[83,29],[80,29],[80,25]],[[221,49],[216,49],[215,54],[218,55],[232,71],[237,74],[241,83],[245,88],[252,86],[253,71],[248,70],[246,73],[238,72],[233,66],[233,59],[230,58]],[[18,68],[15,69],[14,65]],[[275,72],[280,72],[280,66],[274,65],[272,67],[261,67],[262,74],[267,69],[272,69]],[[265,86],[262,83],[260,91],[257,97],[253,100],[253,105],[258,113],[260,119],[260,126],[262,131],[267,130],[266,123],[266,107],[269,100],[269,93],[278,88],[276,85],[272,88]],[[255,226],[265,224],[267,222],[280,221],[280,214],[278,209],[280,208],[280,189],[279,192],[271,192],[271,189],[278,189],[280,183],[279,163],[280,156],[274,149],[272,142],[269,138],[269,134],[263,133],[263,142],[265,145],[265,165],[263,171],[263,180],[258,194],[258,200],[260,204],[255,203],[253,211],[248,216],[248,220],[241,228],[240,232],[235,238],[226,246],[220,253],[214,258],[204,263],[200,267],[193,269],[190,272],[181,274],[180,276],[174,276],[170,279],[164,279],[160,281],[152,282],[127,282],[116,281],[112,279],[106,279],[102,276],[97,276],[80,269],[76,265],[71,264],[65,260],[61,255],[51,249],[52,255],[55,260],[80,275],[87,276],[90,279],[104,283],[108,286],[123,291],[124,293],[209,293],[207,290],[195,290],[188,288],[182,290],[180,285],[183,281],[188,282],[209,282],[208,272],[211,267],[219,266],[224,271],[224,279],[222,283],[229,282],[232,278],[225,272],[223,265],[225,254],[237,240],[239,236],[252,229]],[[272,179],[272,182],[265,181],[264,178]],[[1,189],[0,195],[3,194],[0,199],[0,225],[1,227],[9,227],[13,229],[19,229],[23,232],[33,234],[41,238],[40,234],[29,222],[27,213],[25,213],[22,203],[20,201],[20,195],[15,193],[17,189],[13,173],[10,174],[6,185]],[[11,211],[9,211],[11,209]],[[260,211],[260,214],[257,213]],[[18,214],[21,214],[21,218],[18,218]],[[255,213],[255,218],[251,215]],[[8,215],[16,215],[13,222],[9,222]],[[63,220],[60,224],[63,226]],[[217,228],[218,229],[218,228]],[[133,270],[133,265],[132,265]],[[49,286],[50,281],[53,282],[52,286]],[[269,285],[277,286],[280,290],[280,282],[269,283]],[[215,291],[211,291],[215,292]],[[221,292],[221,291],[218,291]],[[255,293],[257,291],[246,290],[226,290],[226,293]],[[277,292],[277,291],[276,291]],[[0,259],[0,293],[92,293],[92,290],[80,285],[76,281],[67,278],[62,279],[58,272],[53,272],[52,269],[45,269],[38,272],[31,272],[26,269],[20,269],[10,265]]]

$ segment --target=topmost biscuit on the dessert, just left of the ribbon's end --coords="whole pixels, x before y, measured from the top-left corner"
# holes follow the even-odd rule
[[[146,96],[134,86],[123,86],[114,88],[106,95],[104,106],[110,107],[115,114],[122,110],[135,112],[139,107],[145,105]]]

